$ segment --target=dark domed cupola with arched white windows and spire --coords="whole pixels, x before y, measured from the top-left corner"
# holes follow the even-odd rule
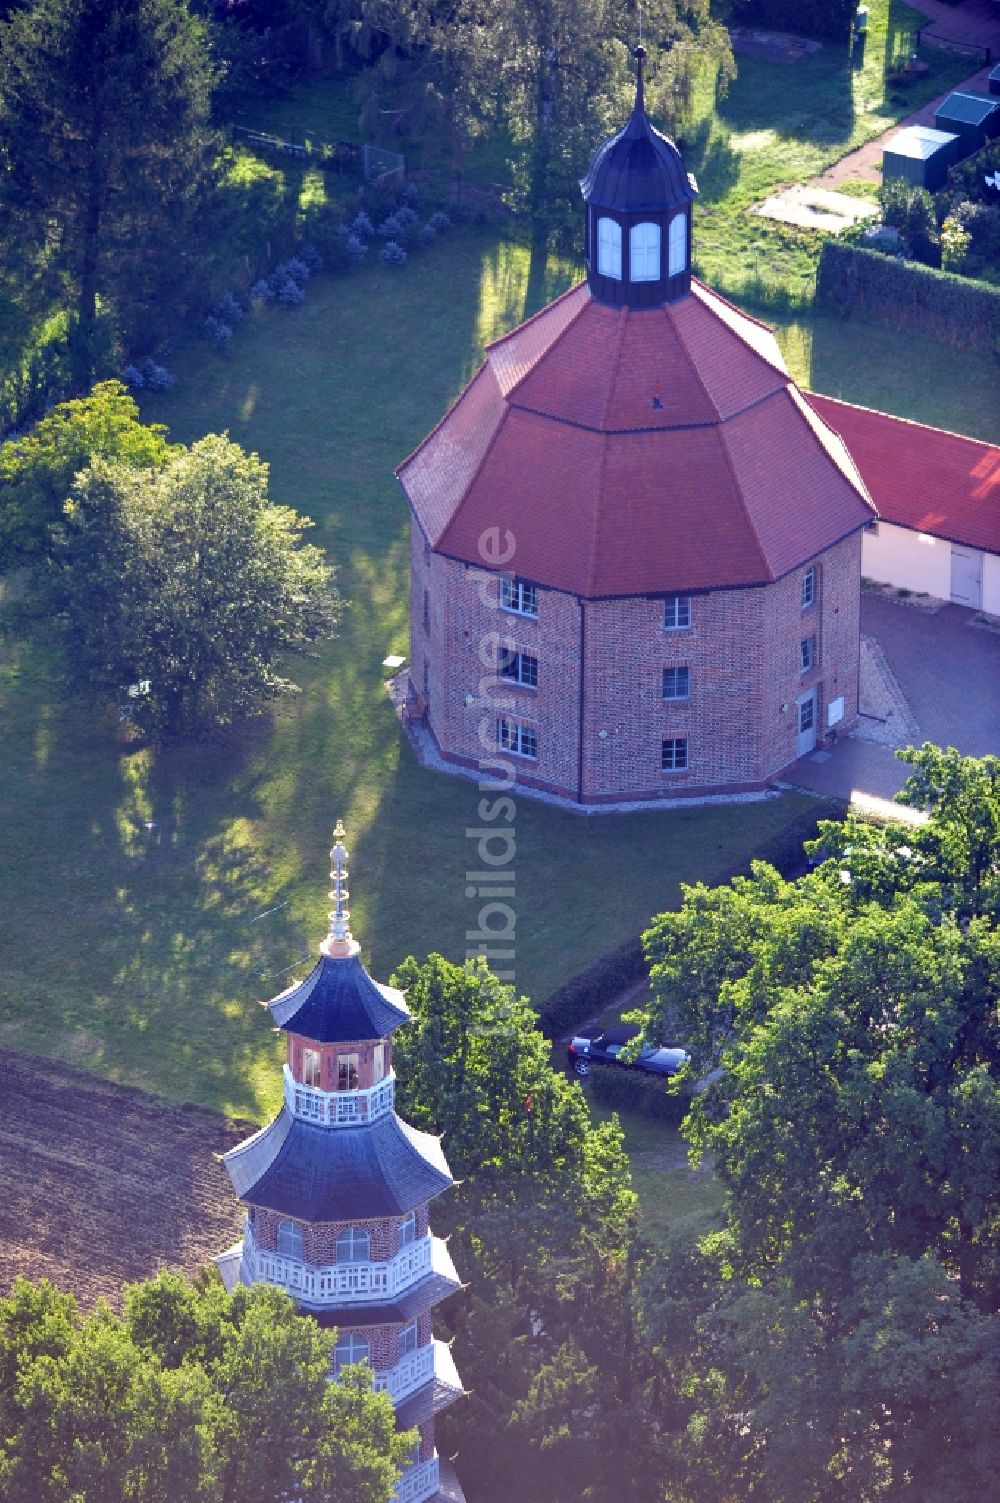
[[[690,292],[690,206],[695,179],[645,113],[636,47],[636,102],[623,131],[598,146],[580,180],[586,216],[586,280],[600,302],[653,308]]]

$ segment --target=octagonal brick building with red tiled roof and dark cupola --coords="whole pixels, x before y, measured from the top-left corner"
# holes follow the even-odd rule
[[[409,711],[577,806],[759,791],[857,717],[875,508],[771,331],[690,274],[644,107],[583,191],[586,280],[487,349],[398,467]]]

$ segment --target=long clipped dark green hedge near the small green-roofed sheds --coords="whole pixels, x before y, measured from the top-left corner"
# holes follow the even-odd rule
[[[824,243],[817,307],[944,344],[1000,353],[998,287],[857,245]]]

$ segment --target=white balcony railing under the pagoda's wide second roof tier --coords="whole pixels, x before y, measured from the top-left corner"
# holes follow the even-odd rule
[[[433,1237],[418,1237],[385,1263],[302,1263],[259,1247],[244,1222],[244,1267],[251,1284],[277,1284],[308,1305],[364,1305],[394,1299],[430,1273]]]

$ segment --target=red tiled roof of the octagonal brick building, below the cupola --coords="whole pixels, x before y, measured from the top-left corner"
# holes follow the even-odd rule
[[[770,329],[701,283],[659,308],[573,287],[498,340],[397,470],[432,547],[589,598],[762,585],[865,526],[845,448]]]

